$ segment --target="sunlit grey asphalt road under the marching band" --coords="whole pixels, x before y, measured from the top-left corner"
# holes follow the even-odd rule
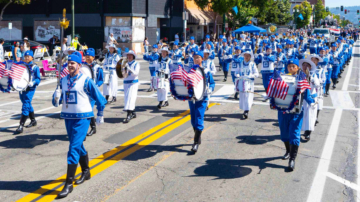
[[[281,160],[277,112],[255,95],[244,120],[231,81],[215,76],[202,144],[189,151],[193,131],[188,103],[170,98],[156,108],[149,70],[141,65],[137,118],[123,124],[123,87],[105,109],[105,124],[88,137],[92,178],[60,201],[358,201],[360,174],[360,42],[311,140],[300,145],[296,169]],[[256,92],[264,94],[261,78]],[[52,201],[66,175],[68,138],[60,108],[51,105],[54,79],[42,80],[33,106],[38,126],[14,135],[18,93],[0,94],[0,201]],[[78,173],[81,170],[78,168]]]

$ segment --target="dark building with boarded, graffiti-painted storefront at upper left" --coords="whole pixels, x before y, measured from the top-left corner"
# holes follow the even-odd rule
[[[6,40],[30,40],[46,43],[54,34],[60,36],[59,19],[66,8],[71,35],[71,0],[36,0],[29,5],[10,4],[0,22],[0,37]],[[0,7],[4,6],[0,4]],[[75,34],[80,43],[103,48],[110,33],[120,48],[142,52],[145,37],[150,44],[160,38],[174,40],[183,32],[183,0],[76,0]],[[9,22],[13,27],[8,29]]]

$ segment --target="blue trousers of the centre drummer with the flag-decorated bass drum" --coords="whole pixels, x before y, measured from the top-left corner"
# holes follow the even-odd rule
[[[191,125],[195,130],[204,130],[204,115],[207,107],[207,99],[196,101],[189,101]]]

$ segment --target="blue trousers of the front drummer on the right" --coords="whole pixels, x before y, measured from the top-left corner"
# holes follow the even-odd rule
[[[300,145],[300,132],[304,113],[287,114],[278,111],[280,137],[283,142],[290,142],[291,145]]]

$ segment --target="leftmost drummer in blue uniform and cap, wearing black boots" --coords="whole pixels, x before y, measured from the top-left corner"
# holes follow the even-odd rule
[[[24,130],[24,124],[28,117],[30,117],[30,124],[26,126],[26,128],[31,128],[37,125],[35,120],[35,113],[34,108],[31,105],[32,99],[34,97],[36,87],[40,84],[40,69],[39,67],[33,63],[34,53],[31,50],[25,52],[25,60],[21,62],[25,64],[31,73],[31,81],[29,81],[28,88],[26,91],[19,92],[19,97],[22,103],[21,108],[21,118],[20,118],[20,125],[16,129],[16,134],[20,134]]]

